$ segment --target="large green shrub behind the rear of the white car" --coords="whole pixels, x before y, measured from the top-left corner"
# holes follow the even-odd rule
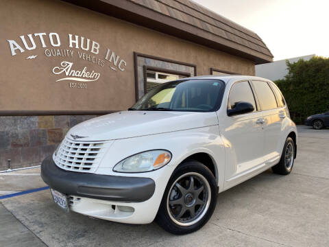
[[[313,57],[290,63],[284,80],[276,80],[287,101],[291,118],[303,124],[306,117],[329,110],[329,58]]]

